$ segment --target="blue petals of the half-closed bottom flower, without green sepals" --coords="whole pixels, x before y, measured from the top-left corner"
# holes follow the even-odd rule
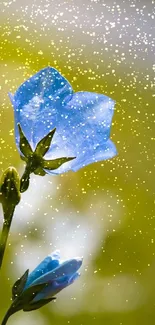
[[[72,284],[78,277],[77,272],[82,265],[81,258],[73,258],[65,262],[60,261],[59,252],[54,252],[51,256],[46,257],[36,268],[29,274],[24,291],[30,287],[47,283],[31,301],[31,305],[43,299],[50,299],[59,291]]]

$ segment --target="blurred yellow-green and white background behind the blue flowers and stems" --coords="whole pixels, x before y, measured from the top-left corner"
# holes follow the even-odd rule
[[[56,7],[60,2],[52,4]],[[129,6],[133,3],[136,7]],[[26,4],[29,17],[22,10]],[[83,255],[80,279],[60,293],[56,303],[39,311],[20,312],[12,316],[10,324],[153,325],[153,2],[144,6],[143,1],[138,5],[134,1],[128,5],[120,1],[66,1],[62,12],[68,8],[67,22],[59,14],[50,27],[48,20],[45,23],[49,14],[47,1],[41,6],[35,1],[0,5],[1,173],[11,165],[20,174],[23,171],[7,93],[14,92],[47,65],[57,68],[75,91],[95,91],[116,100],[111,138],[118,149],[115,158],[76,173],[32,178],[28,193],[16,209],[0,274],[0,318],[10,304],[11,287],[17,278],[60,248],[65,258]],[[124,23],[118,24],[116,38],[113,31],[109,35],[106,29],[106,24],[107,28],[110,26],[106,17],[99,23],[98,31],[95,10],[101,15],[97,7],[101,5],[107,13],[113,13],[112,23],[119,22],[118,9],[121,10]],[[36,19],[39,15],[44,18],[40,18],[40,24]],[[78,18],[74,22],[75,16]],[[91,30],[85,24],[88,18]],[[76,19],[78,26],[81,19],[82,29],[76,27]],[[63,29],[62,22],[68,28]],[[104,33],[107,43],[97,37]],[[123,39],[119,41],[121,33]],[[2,219],[1,212],[1,225]]]

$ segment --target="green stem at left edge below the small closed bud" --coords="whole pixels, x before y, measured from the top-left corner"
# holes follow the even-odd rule
[[[1,238],[0,238],[0,269],[4,258],[4,253],[6,249],[7,239],[9,236],[14,210],[15,210],[15,206],[11,206],[8,208],[6,207],[4,208],[3,206],[4,222],[3,222],[3,228],[2,228]]]

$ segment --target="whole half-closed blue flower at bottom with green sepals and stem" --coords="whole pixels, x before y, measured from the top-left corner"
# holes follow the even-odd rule
[[[12,288],[12,304],[4,318],[19,310],[36,310],[52,300],[58,292],[71,285],[78,277],[78,270],[82,265],[81,258],[73,258],[65,262],[60,261],[58,251],[47,256],[29,274],[27,270],[15,282]]]

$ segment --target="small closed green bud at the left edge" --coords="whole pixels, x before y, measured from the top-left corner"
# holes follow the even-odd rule
[[[20,178],[14,167],[7,168],[0,181],[0,202],[3,208],[16,206],[20,201]]]

